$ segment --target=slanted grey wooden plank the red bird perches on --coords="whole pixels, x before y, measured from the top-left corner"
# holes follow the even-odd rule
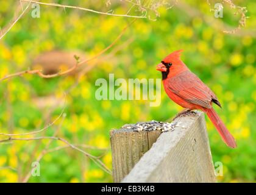
[[[176,118],[123,182],[216,182],[204,113]]]

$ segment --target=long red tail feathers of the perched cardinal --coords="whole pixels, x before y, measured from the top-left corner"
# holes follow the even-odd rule
[[[227,144],[229,147],[236,147],[235,139],[227,130],[224,123],[221,121],[221,118],[217,115],[215,110],[213,108],[211,109],[204,109],[204,112],[207,114],[207,116],[212,121],[213,125],[216,127],[216,129],[219,132],[219,135],[221,135],[222,140]]]

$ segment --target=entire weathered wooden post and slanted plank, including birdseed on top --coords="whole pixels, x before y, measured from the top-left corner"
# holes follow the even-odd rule
[[[171,124],[126,125],[110,136],[114,182],[216,182],[202,112]]]

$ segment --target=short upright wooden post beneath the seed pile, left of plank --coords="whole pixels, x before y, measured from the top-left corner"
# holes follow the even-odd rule
[[[134,132],[128,129],[110,132],[113,182],[123,180],[143,154],[151,148],[160,133],[160,130]]]

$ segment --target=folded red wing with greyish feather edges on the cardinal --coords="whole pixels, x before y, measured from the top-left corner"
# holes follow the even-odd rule
[[[173,93],[192,104],[212,108],[211,102],[219,104],[215,94],[191,71],[185,71],[175,77],[169,78],[167,87]]]

